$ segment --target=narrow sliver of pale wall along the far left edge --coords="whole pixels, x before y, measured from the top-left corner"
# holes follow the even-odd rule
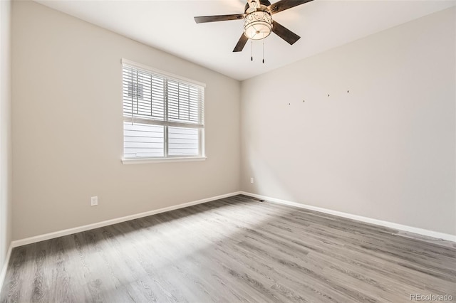
[[[11,2],[0,1],[0,271],[12,234]],[[1,285],[0,274],[0,285]],[[1,287],[1,286],[0,286]]]

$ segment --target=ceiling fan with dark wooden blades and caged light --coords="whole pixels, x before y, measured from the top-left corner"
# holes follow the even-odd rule
[[[269,36],[271,31],[292,45],[301,37],[288,28],[281,26],[280,23],[272,20],[272,15],[313,0],[281,0],[274,4],[271,4],[268,0],[247,1],[248,3],[245,5],[244,14],[200,16],[195,17],[195,21],[196,23],[205,23],[244,19],[244,33],[242,33],[236,47],[234,47],[234,52],[242,51],[249,39],[264,39]]]

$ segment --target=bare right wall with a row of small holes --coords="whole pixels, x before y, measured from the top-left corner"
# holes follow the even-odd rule
[[[456,235],[455,20],[242,82],[242,190]]]

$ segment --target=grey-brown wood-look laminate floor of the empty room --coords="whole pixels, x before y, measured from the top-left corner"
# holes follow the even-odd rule
[[[456,247],[234,196],[14,248],[1,302],[456,301]]]

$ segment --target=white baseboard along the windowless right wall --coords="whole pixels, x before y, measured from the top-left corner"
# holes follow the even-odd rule
[[[319,211],[321,213],[328,213],[333,216],[338,216],[338,217],[343,217],[343,218],[348,218],[352,220],[357,220],[365,223],[371,223],[375,225],[380,225],[380,226],[385,226],[387,228],[393,228],[396,230],[403,230],[409,233],[417,233],[418,235],[425,235],[427,237],[432,237],[432,238],[437,238],[437,239],[442,239],[442,240],[448,240],[448,241],[453,241],[456,242],[456,235],[450,235],[448,233],[439,233],[437,231],[432,231],[432,230],[427,230],[423,228],[415,228],[413,226],[408,226],[408,225],[402,225],[398,223],[393,223],[393,222],[388,222],[388,221],[383,221],[383,220],[377,220],[373,218],[368,218],[368,217],[363,217],[363,216],[358,216],[358,215],[352,215],[351,213],[343,213],[341,211],[332,211],[331,209],[327,208],[320,208],[316,206],[310,206],[302,203],[296,203],[296,202],[291,202],[291,201],[286,201],[286,200],[281,200],[278,198],[271,198],[268,196],[261,196],[257,195],[257,193],[247,193],[245,191],[241,192],[243,195],[246,196],[251,196],[254,198],[260,198],[265,201],[270,201],[270,202],[275,202],[275,203],[280,203],[288,206],[295,206],[299,208],[305,208],[309,209],[311,211]]]

